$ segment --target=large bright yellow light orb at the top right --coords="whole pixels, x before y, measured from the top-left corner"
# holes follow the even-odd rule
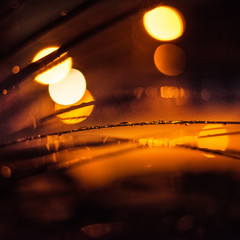
[[[168,6],[160,6],[145,13],[143,24],[150,36],[161,41],[174,40],[184,31],[182,14]]]

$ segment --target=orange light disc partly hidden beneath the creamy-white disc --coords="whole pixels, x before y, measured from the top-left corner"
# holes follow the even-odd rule
[[[60,109],[65,109],[71,106],[76,106],[76,105],[80,105],[82,103],[89,103],[94,101],[94,98],[92,96],[92,94],[86,90],[85,94],[83,95],[83,97],[74,105],[60,105],[60,104],[55,104],[55,110],[58,111]],[[69,111],[69,112],[65,112],[65,113],[61,113],[59,115],[57,115],[57,117],[66,124],[76,124],[76,123],[80,123],[83,120],[85,120],[88,116],[90,116],[90,114],[92,113],[94,108],[94,105],[90,105],[90,106],[86,106],[83,108],[77,108],[75,110]]]

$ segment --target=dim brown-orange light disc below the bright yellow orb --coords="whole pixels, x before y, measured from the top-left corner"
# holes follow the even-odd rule
[[[186,56],[176,45],[163,44],[154,53],[154,63],[161,73],[177,76],[182,74],[185,69]]]

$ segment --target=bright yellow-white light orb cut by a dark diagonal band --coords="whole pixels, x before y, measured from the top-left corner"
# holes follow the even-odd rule
[[[48,54],[57,50],[58,47],[49,47],[41,50],[37,55],[33,58],[32,62],[36,62],[37,60],[47,56]],[[37,75],[35,80],[42,84],[52,84],[61,81],[63,78],[67,76],[70,69],[72,67],[72,58],[66,58],[64,61],[58,63],[54,67],[48,69],[47,71]]]

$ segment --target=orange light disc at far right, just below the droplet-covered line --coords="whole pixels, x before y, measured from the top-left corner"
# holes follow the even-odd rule
[[[227,130],[221,124],[208,124],[198,135],[198,147],[210,150],[225,151],[229,137]],[[212,154],[205,154],[206,157],[214,157]]]

